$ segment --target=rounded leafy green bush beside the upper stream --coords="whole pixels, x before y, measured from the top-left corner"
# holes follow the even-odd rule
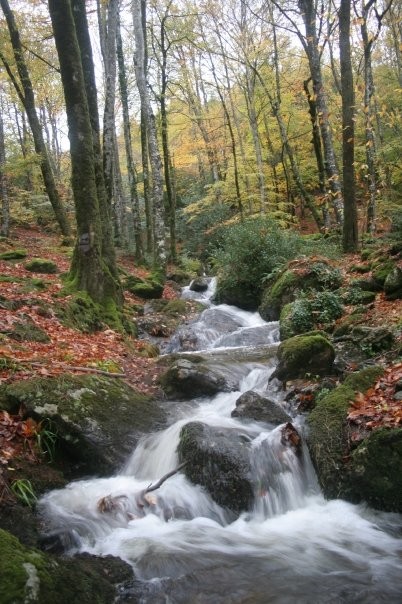
[[[294,258],[301,237],[268,218],[248,219],[228,227],[215,254],[217,299],[246,309],[258,307],[263,282],[278,266]]]

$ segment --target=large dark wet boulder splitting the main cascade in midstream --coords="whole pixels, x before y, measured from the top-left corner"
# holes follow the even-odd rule
[[[219,505],[240,513],[253,502],[249,438],[230,429],[200,422],[185,425],[180,433],[179,458],[184,473],[204,486]]]

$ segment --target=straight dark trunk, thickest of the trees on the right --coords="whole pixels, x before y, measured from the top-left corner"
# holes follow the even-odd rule
[[[358,247],[357,208],[355,199],[355,98],[350,54],[351,0],[341,0],[339,9],[339,51],[342,89],[342,158],[344,187],[343,250],[354,252]]]

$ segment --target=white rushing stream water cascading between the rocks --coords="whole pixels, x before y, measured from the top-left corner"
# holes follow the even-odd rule
[[[197,295],[205,302],[212,293]],[[186,289],[184,297],[192,294]],[[225,326],[223,329],[222,326]],[[210,307],[193,326],[199,348],[274,342],[277,324],[234,307]],[[263,342],[261,342],[263,340]],[[77,481],[46,495],[42,510],[55,528],[71,529],[79,549],[120,556],[136,581],[121,602],[143,604],[377,604],[402,602],[402,522],[320,493],[306,448],[297,456],[281,443],[280,427],[231,417],[242,392],[283,405],[269,384],[273,363],[230,365],[239,390],[170,404],[171,425],[138,444],[124,470],[108,479]],[[287,409],[288,410],[288,409]],[[289,410],[288,410],[289,411]],[[189,421],[232,428],[251,441],[254,509],[233,521],[201,488],[177,473],[137,517],[135,494],[178,465],[180,430]],[[294,423],[303,429],[301,418]],[[114,513],[97,502],[124,496]]]

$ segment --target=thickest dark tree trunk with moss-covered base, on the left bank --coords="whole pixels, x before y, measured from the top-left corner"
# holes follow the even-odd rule
[[[95,160],[99,147],[94,144],[95,116],[90,114],[94,108],[94,91],[91,98],[88,96],[88,86],[94,85],[94,80],[85,4],[84,0],[48,0],[48,4],[66,102],[77,218],[78,240],[70,280],[77,289],[86,291],[93,300],[113,312],[122,298],[116,280],[117,268],[111,267],[112,257],[104,254],[110,246],[110,242],[106,245],[104,242],[109,235],[106,223],[110,217],[101,215],[104,200],[101,203],[98,197],[100,158]],[[83,48],[85,57],[81,54]]]

